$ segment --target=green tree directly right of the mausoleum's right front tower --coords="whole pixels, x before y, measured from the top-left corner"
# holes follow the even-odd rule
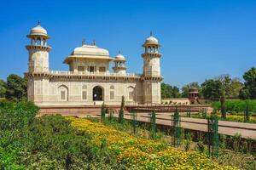
[[[180,97],[179,89],[176,86],[171,86],[165,82],[161,83],[162,98],[178,98]]]

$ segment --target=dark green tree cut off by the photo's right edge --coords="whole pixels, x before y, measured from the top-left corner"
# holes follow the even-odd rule
[[[241,97],[247,97],[247,92],[249,93],[250,99],[256,99],[256,68],[253,67],[249,71],[245,72],[243,75],[245,80],[245,88],[241,90]]]

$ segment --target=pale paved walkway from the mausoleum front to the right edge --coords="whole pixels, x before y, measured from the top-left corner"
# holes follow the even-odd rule
[[[65,111],[64,110],[65,109],[63,109],[62,107],[61,109],[48,108],[45,111],[41,111],[39,116],[60,113],[62,116],[99,117],[101,108],[98,107],[97,110],[92,109],[90,111],[88,108],[84,107],[83,110],[79,110],[78,108],[72,107],[71,109],[68,108]],[[171,126],[172,114],[173,113],[170,112],[157,112],[156,123],[159,125]],[[184,115],[184,113],[181,113],[181,115]],[[115,114],[114,116],[118,115]],[[131,115],[128,111],[125,111],[125,119],[131,119]],[[137,120],[139,122],[148,122],[148,113],[137,113]],[[181,127],[196,131],[207,132],[207,120],[199,118],[182,117]],[[218,121],[218,133],[230,136],[234,136],[236,133],[240,133],[242,138],[256,139],[256,123]]]

